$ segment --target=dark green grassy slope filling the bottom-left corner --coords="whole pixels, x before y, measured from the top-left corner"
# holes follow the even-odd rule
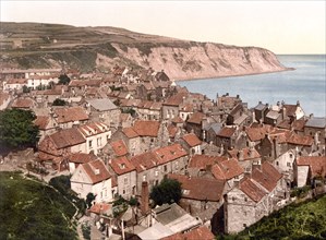
[[[0,239],[76,239],[73,205],[17,172],[0,172]]]

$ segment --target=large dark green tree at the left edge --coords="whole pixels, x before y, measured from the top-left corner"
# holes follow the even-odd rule
[[[5,109],[0,111],[0,145],[9,148],[35,147],[39,140],[36,116],[31,110]]]

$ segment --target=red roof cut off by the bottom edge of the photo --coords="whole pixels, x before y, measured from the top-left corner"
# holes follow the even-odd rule
[[[188,232],[174,233],[169,237],[161,238],[160,240],[214,240],[215,236],[206,226],[192,229]]]

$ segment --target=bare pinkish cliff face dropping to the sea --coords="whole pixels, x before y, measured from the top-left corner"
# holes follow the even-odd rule
[[[113,45],[119,55],[137,65],[164,69],[174,80],[244,75],[282,71],[276,56],[266,49],[218,44],[192,44],[184,47],[154,47],[144,55],[136,47],[124,51]]]

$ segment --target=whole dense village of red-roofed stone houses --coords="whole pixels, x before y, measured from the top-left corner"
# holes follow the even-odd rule
[[[123,65],[2,69],[0,80],[0,110],[32,110],[40,132],[36,149],[1,156],[0,170],[69,176],[80,199],[94,195],[85,215],[104,239],[215,239],[290,204],[298,188],[325,192],[326,117],[300,99],[209,99],[164,70]],[[181,200],[153,206],[164,179],[181,183]],[[137,204],[119,208],[119,197]]]

